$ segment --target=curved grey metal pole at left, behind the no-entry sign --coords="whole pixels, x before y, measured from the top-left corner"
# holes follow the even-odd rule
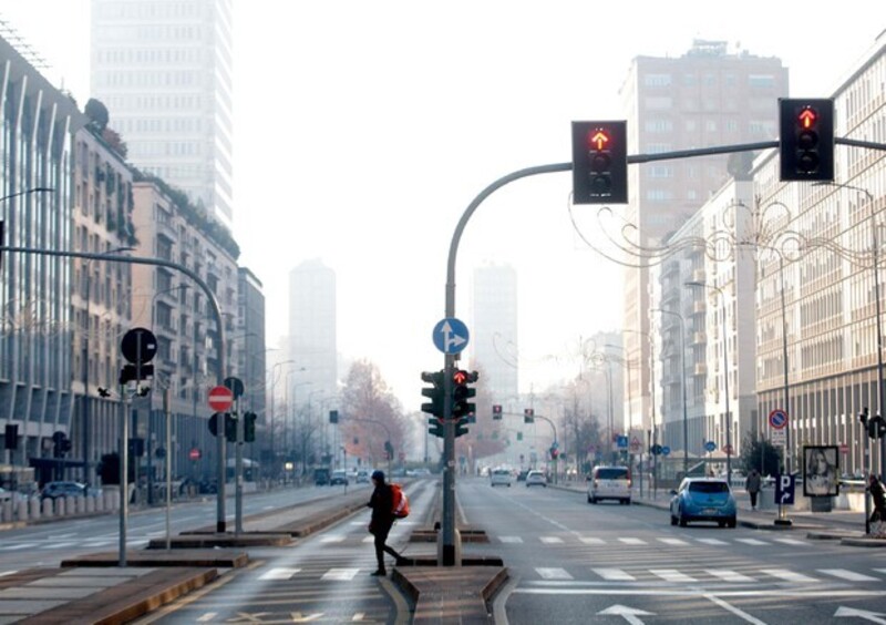
[[[90,252],[60,252],[58,249],[42,249],[39,247],[10,247],[10,246],[0,246],[0,253],[13,253],[13,254],[37,254],[39,256],[60,256],[64,258],[89,258],[94,260],[110,260],[112,263],[124,263],[127,265],[153,265],[155,267],[168,267],[171,269],[176,269],[182,271],[192,280],[197,283],[197,286],[206,295],[209,304],[213,307],[213,312],[215,314],[215,320],[218,325],[218,383],[220,385],[222,381],[225,379],[225,325],[222,321],[222,308],[218,305],[218,300],[213,293],[213,289],[209,288],[203,278],[200,278],[197,274],[185,267],[184,265],[179,265],[178,263],[173,263],[172,260],[165,260],[163,258],[143,258],[138,256],[116,256],[114,254],[93,254]],[[225,533],[225,437],[224,433],[219,432],[219,436],[216,437],[218,439],[218,491],[217,496],[217,505],[216,505],[216,531],[218,533]]]

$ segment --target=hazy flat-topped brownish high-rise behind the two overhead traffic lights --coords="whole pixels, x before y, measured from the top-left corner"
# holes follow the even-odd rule
[[[773,57],[729,52],[721,41],[694,41],[682,57],[638,57],[621,88],[629,154],[653,154],[777,137],[777,99],[787,70]],[[748,180],[750,153],[659,161],[629,167],[627,221],[633,245],[652,247],[681,227],[733,176]],[[642,264],[642,257],[630,258]],[[625,271],[625,357],[649,362],[649,270]],[[679,312],[674,310],[674,312]],[[630,380],[628,413],[651,421],[649,368]]]

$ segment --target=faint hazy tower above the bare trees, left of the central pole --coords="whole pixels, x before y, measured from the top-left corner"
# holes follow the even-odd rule
[[[297,397],[329,397],[338,390],[336,342],[336,271],[319,259],[306,260],[289,274],[289,359],[291,371],[308,388]],[[301,403],[301,400],[299,400]]]

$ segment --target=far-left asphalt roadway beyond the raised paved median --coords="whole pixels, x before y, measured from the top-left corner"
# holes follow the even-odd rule
[[[354,488],[370,490],[361,484]],[[244,496],[244,516],[260,514],[287,505],[332,496],[343,492],[342,486],[306,486],[280,489]],[[226,501],[228,527],[234,529],[234,498]],[[216,521],[215,495],[204,501],[173,504],[169,511],[172,535],[202,526],[214,526]],[[166,509],[152,508],[134,511],[128,516],[126,544],[128,549],[144,547],[152,539],[166,535]],[[86,519],[59,520],[27,527],[0,532],[0,575],[32,566],[58,566],[62,560],[86,553],[116,551],[120,547],[120,515],[117,513]]]

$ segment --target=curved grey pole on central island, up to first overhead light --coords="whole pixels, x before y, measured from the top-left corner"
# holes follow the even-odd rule
[[[527,167],[519,170],[506,176],[503,176],[484,188],[480,195],[467,206],[455,226],[455,232],[452,235],[450,243],[450,255],[446,263],[446,306],[445,317],[451,318],[455,316],[455,256],[459,252],[459,242],[462,238],[467,221],[480,207],[484,199],[495,193],[504,185],[538,174],[549,174],[554,172],[570,172],[573,164],[557,163],[554,165],[539,165],[535,167]],[[446,354],[443,358],[443,455],[445,458],[445,468],[443,470],[443,523],[441,527],[442,539],[442,564],[443,566],[455,565],[455,423],[452,420],[452,373],[455,368],[455,355]]]

